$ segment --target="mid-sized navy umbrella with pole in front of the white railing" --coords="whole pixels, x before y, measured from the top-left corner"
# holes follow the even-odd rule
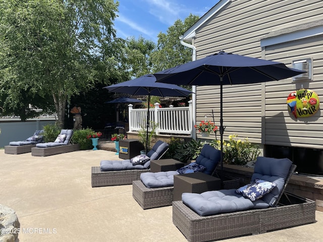
[[[131,95],[148,95],[146,153],[148,152],[149,101],[150,96],[187,97],[192,92],[174,84],[155,82],[154,75],[148,74],[126,82],[104,87],[110,92],[127,93]]]

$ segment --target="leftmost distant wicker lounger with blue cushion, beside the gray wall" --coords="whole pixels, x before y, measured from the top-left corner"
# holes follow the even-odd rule
[[[35,147],[38,143],[44,142],[43,132],[43,130],[36,130],[33,136],[24,141],[10,142],[9,145],[5,146],[5,153],[18,155],[31,152],[32,147]]]

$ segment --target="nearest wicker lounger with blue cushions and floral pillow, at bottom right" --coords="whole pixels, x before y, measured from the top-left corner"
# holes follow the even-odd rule
[[[296,165],[287,158],[258,157],[251,180],[258,178],[275,184],[272,190],[267,187],[270,192],[259,193],[260,198],[255,200],[254,194],[249,192],[257,185],[252,188],[250,186],[255,183],[251,183],[239,189],[244,191],[244,195],[237,194],[235,189],[202,194],[183,193],[182,201],[173,202],[173,223],[188,241],[197,242],[314,222],[314,201],[302,199],[299,204],[279,204],[295,168]],[[260,186],[257,191],[267,190]],[[250,199],[247,198],[249,196]]]

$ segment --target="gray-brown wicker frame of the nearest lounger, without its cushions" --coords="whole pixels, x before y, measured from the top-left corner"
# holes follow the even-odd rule
[[[258,159],[255,165],[255,173],[252,178],[259,177],[257,176],[259,174],[256,173],[259,171],[259,166],[257,167]],[[270,159],[273,158],[268,158],[267,161],[270,162]],[[283,161],[285,159],[280,160]],[[289,172],[285,177],[283,186],[279,185],[281,190],[279,188],[274,188],[270,193],[260,198],[263,201],[266,199],[272,201],[271,207],[269,208],[256,208],[235,212],[227,211],[226,213],[200,216],[187,204],[184,204],[183,201],[174,201],[173,223],[184,234],[188,241],[197,242],[218,240],[248,234],[258,234],[266,231],[315,222],[314,201],[284,193],[295,167],[295,165],[290,165]],[[267,173],[270,173],[268,170],[272,169],[260,170],[261,172],[267,171]],[[268,178],[269,176],[270,175],[262,177]],[[220,190],[217,192],[225,193],[228,191],[230,190]],[[277,191],[279,191],[278,194],[276,194]],[[202,193],[201,196],[207,196],[207,193],[211,192]],[[182,200],[186,196],[186,194],[183,194]],[[242,199],[244,198],[242,197]],[[197,203],[199,202],[200,201],[198,200]]]

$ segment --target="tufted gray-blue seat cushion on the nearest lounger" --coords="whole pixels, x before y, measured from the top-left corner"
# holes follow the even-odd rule
[[[209,191],[201,194],[183,193],[182,201],[200,216],[251,209],[253,203],[235,193],[235,189]],[[267,207],[269,207],[267,205]]]

